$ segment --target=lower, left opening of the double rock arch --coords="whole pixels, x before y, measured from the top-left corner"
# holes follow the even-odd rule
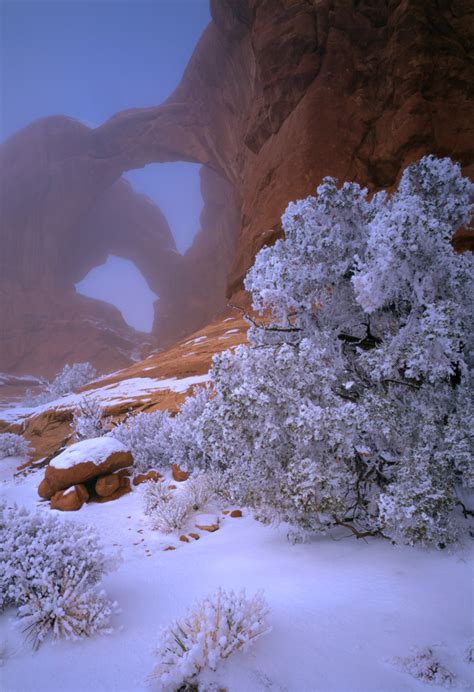
[[[75,286],[81,295],[114,305],[130,327],[152,331],[158,296],[131,260],[108,255],[104,264],[91,269]]]

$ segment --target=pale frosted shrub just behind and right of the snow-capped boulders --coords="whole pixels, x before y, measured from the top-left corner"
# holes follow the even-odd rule
[[[110,434],[130,449],[135,468],[140,473],[144,473],[151,468],[169,465],[170,431],[169,413],[154,411],[129,416]]]

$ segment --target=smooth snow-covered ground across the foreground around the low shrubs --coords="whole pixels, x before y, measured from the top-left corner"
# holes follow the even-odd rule
[[[36,488],[42,472],[12,481],[18,460],[0,460],[8,504],[50,512]],[[210,676],[229,692],[428,690],[394,658],[431,647],[472,689],[474,664],[464,662],[473,635],[473,555],[357,541],[340,533],[291,545],[284,527],[265,527],[244,511],[221,515],[215,533],[189,544],[151,531],[142,513],[144,486],[107,504],[60,513],[96,526],[122,563],[103,582],[117,600],[115,632],[80,642],[47,640],[33,652],[13,611],[0,617],[0,687],[5,692],[160,689],[146,682],[162,625],[217,587],[262,589],[272,632]],[[178,491],[179,492],[179,489]],[[188,531],[192,530],[191,523]],[[176,550],[165,551],[173,545]]]

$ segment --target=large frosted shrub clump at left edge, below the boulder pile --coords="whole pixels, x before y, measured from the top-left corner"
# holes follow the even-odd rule
[[[35,648],[107,629],[115,604],[96,590],[114,566],[91,528],[0,506],[0,610],[16,606]]]

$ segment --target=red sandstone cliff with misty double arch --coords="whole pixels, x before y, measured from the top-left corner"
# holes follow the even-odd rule
[[[96,129],[38,120],[1,146],[0,371],[113,370],[245,304],[255,253],[325,175],[393,186],[425,153],[474,173],[469,0],[212,0],[182,81],[159,106]],[[122,174],[202,164],[201,229],[177,253],[166,219]],[[183,199],[183,204],[186,200]],[[472,242],[469,229],[458,248]],[[114,254],[160,296],[153,333],[75,292]]]

